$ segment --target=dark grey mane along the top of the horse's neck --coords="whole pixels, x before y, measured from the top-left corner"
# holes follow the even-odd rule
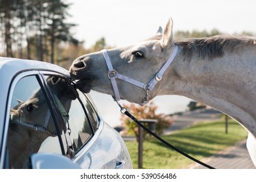
[[[188,59],[197,55],[199,58],[212,60],[223,57],[225,51],[237,51],[242,47],[256,45],[256,39],[245,35],[218,35],[178,40],[176,44],[183,47],[182,54]]]

